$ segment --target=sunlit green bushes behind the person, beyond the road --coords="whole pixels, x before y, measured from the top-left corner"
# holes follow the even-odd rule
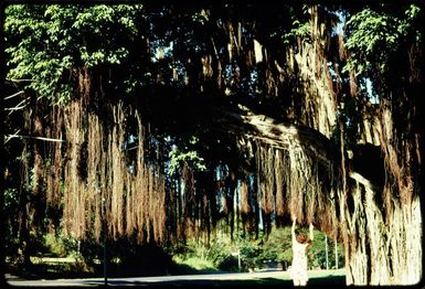
[[[306,232],[308,234],[308,232]],[[314,245],[308,250],[309,265],[326,268],[325,234],[315,229]],[[232,253],[241,250],[242,270],[262,269],[268,266],[281,265],[284,269],[293,261],[293,244],[290,227],[274,228],[261,239],[251,239],[237,234],[232,240],[227,235],[219,234],[212,238],[210,246],[195,240],[189,240],[184,248],[173,248],[173,260],[199,270],[237,270],[237,256]],[[339,268],[343,267],[343,250],[338,244]],[[329,267],[334,267],[334,243],[328,238]]]

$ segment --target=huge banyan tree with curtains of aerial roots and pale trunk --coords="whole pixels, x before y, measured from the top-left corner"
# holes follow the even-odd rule
[[[419,281],[422,9],[153,2],[6,9],[28,222],[144,244],[296,216],[348,285]]]

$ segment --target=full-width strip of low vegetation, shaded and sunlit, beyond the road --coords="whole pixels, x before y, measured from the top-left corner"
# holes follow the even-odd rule
[[[268,236],[262,234],[259,239],[240,234],[232,240],[227,234],[219,233],[209,245],[190,239],[180,245],[140,247],[123,239],[107,246],[109,277],[287,270],[293,260],[290,227],[275,228]],[[338,244],[337,249],[338,268],[343,268],[342,245]],[[46,234],[30,257],[30,268],[21,271],[23,263],[19,258],[9,256],[8,259],[9,270],[26,278],[62,278],[102,277],[103,257],[103,246],[95,242]],[[327,269],[326,240],[319,231],[315,229],[315,243],[308,258],[310,269]],[[328,239],[328,268],[336,269],[332,239]]]

